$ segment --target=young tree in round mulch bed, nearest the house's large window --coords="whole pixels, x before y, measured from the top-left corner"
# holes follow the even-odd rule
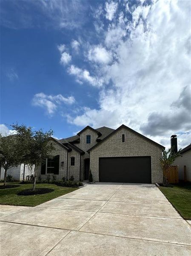
[[[51,158],[52,151],[55,149],[51,142],[53,131],[43,132],[32,131],[31,127],[26,125],[12,125],[17,131],[18,140],[23,143],[23,163],[34,166],[33,189],[35,190],[37,180],[37,169],[45,162],[46,158]]]

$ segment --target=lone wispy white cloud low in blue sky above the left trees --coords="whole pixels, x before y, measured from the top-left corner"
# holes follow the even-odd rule
[[[32,99],[32,105],[45,108],[49,115],[52,115],[61,103],[71,105],[75,102],[73,96],[64,97],[61,94],[52,96],[45,93],[37,93]]]

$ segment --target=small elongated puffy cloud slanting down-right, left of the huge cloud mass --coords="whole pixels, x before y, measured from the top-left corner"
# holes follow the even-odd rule
[[[88,82],[89,84],[100,87],[103,84],[102,79],[97,79],[94,76],[91,76],[88,70],[80,69],[79,67],[76,67],[74,65],[71,65],[68,68],[68,73],[70,75],[76,76],[76,81],[82,84],[83,82]]]

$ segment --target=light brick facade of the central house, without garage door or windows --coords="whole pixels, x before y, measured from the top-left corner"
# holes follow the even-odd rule
[[[125,134],[125,142],[122,142],[122,134]],[[86,143],[86,136],[91,135],[91,143]],[[68,179],[71,175],[74,176],[74,180],[84,180],[85,178],[85,159],[90,159],[90,169],[93,175],[94,181],[99,181],[99,157],[134,157],[134,156],[151,156],[151,182],[162,183],[163,175],[160,166],[160,157],[162,157],[162,147],[156,143],[146,140],[141,135],[134,131],[121,127],[114,132],[111,136],[100,142],[95,148],[92,148],[97,144],[98,134],[90,128],[85,129],[80,133],[80,143],[75,143],[78,148],[82,149],[85,154],[79,153],[79,151],[71,148],[71,151],[67,151],[59,143],[54,142],[55,152],[54,155],[60,155],[59,174],[55,175],[57,180],[66,177],[67,163],[68,163]],[[91,149],[88,153],[87,150]],[[67,160],[68,156],[68,160]],[[75,165],[71,166],[71,157],[75,157]],[[64,166],[61,166],[61,162],[64,162]],[[37,170],[37,177],[41,173],[41,168]],[[52,175],[51,175],[52,176]],[[47,175],[41,175],[42,180],[47,179]],[[51,177],[52,179],[52,177]]]

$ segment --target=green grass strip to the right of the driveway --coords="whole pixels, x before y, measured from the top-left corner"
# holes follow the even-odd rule
[[[186,220],[191,220],[191,184],[160,187],[160,190]]]

